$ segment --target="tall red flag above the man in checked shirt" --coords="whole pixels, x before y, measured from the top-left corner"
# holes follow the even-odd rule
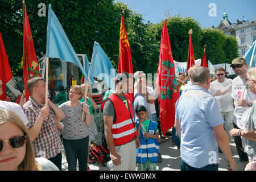
[[[30,77],[40,77],[38,59],[36,58],[34,42],[31,35],[30,23],[28,22],[26,5],[23,3],[23,77],[26,101],[30,93],[27,90],[27,81]]]

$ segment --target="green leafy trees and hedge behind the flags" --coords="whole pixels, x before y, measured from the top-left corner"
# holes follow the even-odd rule
[[[46,16],[39,16],[39,3],[45,3]],[[119,28],[121,3],[114,0],[26,0],[28,19],[34,39],[36,55],[46,52],[48,5],[59,19],[76,53],[92,56],[96,40],[118,69]],[[126,7],[125,27],[131,48],[134,72],[156,73],[159,61],[160,23],[143,23],[143,15]],[[195,19],[180,15],[167,19],[174,60],[187,61],[188,31],[193,30],[192,43],[195,59],[203,56],[207,43],[207,59],[213,64],[230,63],[238,57],[238,44],[234,36],[225,35],[216,28],[201,28]],[[0,31],[14,76],[22,76],[23,23],[22,1],[2,0],[0,6]]]

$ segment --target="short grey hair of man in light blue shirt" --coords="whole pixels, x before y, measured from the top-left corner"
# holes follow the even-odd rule
[[[191,69],[191,78],[194,85],[205,84],[210,77],[210,70],[200,65],[193,65]]]

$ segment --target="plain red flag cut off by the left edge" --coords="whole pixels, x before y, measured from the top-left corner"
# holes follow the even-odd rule
[[[0,80],[3,82],[2,84],[2,95],[0,96],[0,100],[4,101],[6,99],[6,90],[5,84],[11,80],[13,77],[13,73],[11,73],[10,64],[6,55],[5,46],[3,45],[3,39],[0,32]]]

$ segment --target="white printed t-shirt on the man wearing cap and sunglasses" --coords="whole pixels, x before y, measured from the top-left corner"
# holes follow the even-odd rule
[[[242,123],[242,114],[245,112],[248,107],[242,107],[237,105],[237,100],[241,98],[243,89],[245,88],[245,78],[241,79],[240,76],[237,76],[234,78],[232,82],[232,93],[231,97],[234,99],[234,115],[233,122],[242,129],[243,123]],[[245,94],[243,96],[243,99],[246,100],[246,102],[251,102],[256,99],[256,95],[253,92],[249,91],[249,86],[246,86]]]

